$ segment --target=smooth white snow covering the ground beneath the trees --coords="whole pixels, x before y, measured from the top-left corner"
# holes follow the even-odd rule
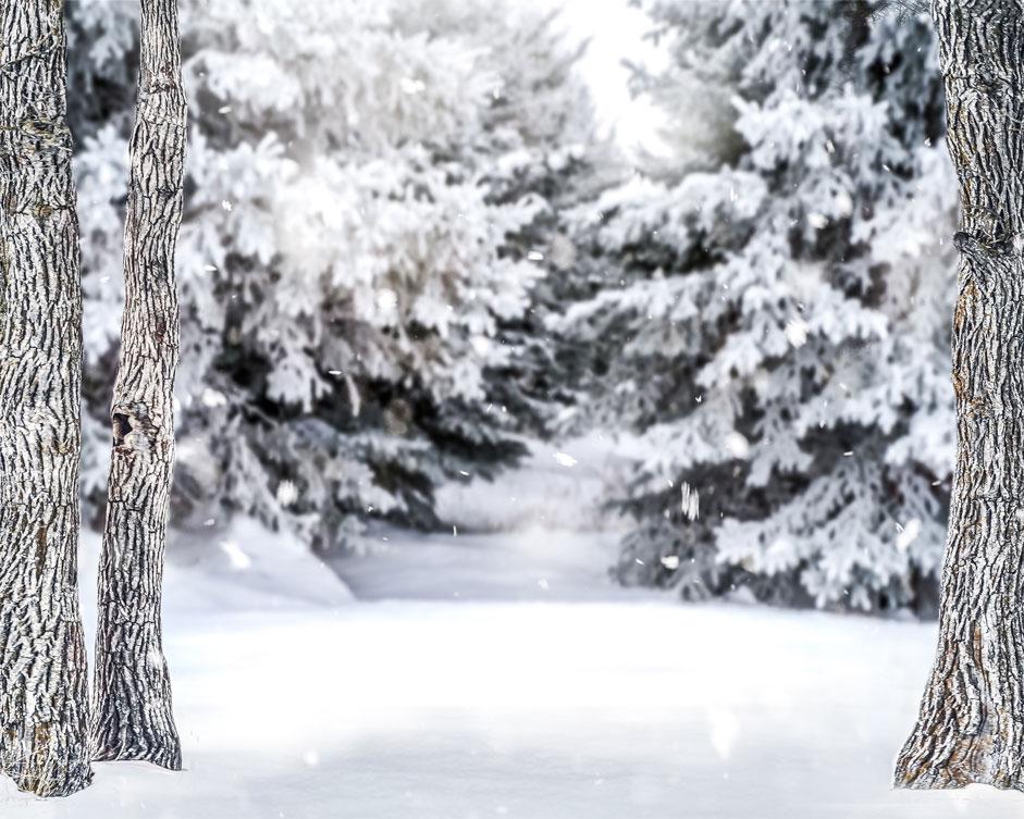
[[[256,524],[180,537],[165,631],[185,771],[98,764],[54,801],[4,780],[0,817],[1024,812],[1015,793],[889,789],[933,625],[618,590],[608,535],[381,536],[338,564],[358,600]]]

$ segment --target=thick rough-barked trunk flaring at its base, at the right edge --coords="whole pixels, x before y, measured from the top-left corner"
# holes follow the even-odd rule
[[[960,179],[938,653],[896,785],[1024,790],[1024,2],[934,0]]]

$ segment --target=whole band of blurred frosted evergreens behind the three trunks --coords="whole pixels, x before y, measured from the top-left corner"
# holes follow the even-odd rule
[[[554,7],[183,1],[176,526],[244,513],[321,555],[501,526],[510,470],[555,452],[600,486],[552,518],[620,532],[624,583],[933,608],[955,186],[930,22],[638,5],[639,148]],[[71,5],[97,500],[135,13]],[[497,520],[439,502],[480,482]]]

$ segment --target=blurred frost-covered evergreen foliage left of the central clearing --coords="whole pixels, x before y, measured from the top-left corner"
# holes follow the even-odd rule
[[[79,0],[88,396],[120,315],[131,4]],[[528,332],[590,108],[548,20],[483,0],[184,0],[176,520],[218,509],[319,547],[434,522],[542,422]],[[87,469],[87,474],[94,474]],[[97,481],[100,472],[95,471]],[[97,484],[98,485],[98,484]]]

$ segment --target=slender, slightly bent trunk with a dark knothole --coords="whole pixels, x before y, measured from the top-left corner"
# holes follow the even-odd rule
[[[177,770],[181,744],[160,608],[174,462],[174,248],[182,221],[186,110],[177,0],[143,0],[141,8],[92,740],[96,759],[140,759]]]

